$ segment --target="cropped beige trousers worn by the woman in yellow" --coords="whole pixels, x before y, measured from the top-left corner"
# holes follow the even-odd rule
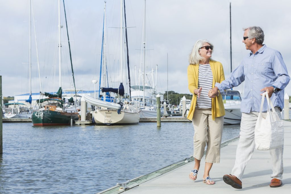
[[[195,108],[192,119],[194,158],[201,160],[207,145],[205,162],[219,163],[223,118],[224,116],[221,116],[212,120],[211,108]]]

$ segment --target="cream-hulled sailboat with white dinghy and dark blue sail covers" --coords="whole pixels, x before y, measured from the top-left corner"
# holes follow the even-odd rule
[[[120,86],[118,88],[105,88],[102,87],[103,100],[95,99],[88,95],[84,95],[84,99],[89,104],[96,106],[95,111],[93,112],[93,118],[96,124],[137,124],[139,123],[139,108],[129,100],[123,101],[123,96],[125,95],[124,86],[122,83],[123,79],[123,0],[120,1]],[[125,7],[124,7],[125,13]],[[104,6],[104,19],[106,18],[106,2]],[[104,24],[106,21],[104,20]],[[103,29],[104,30],[104,29]],[[127,31],[126,31],[126,18],[125,18],[125,34],[127,40]],[[103,40],[105,40],[103,36]],[[103,41],[102,41],[103,42]],[[127,42],[127,41],[126,41]],[[103,47],[102,47],[103,49]],[[103,51],[105,52],[105,51]],[[105,56],[105,55],[104,55]],[[105,59],[106,60],[106,59]],[[105,70],[104,63],[104,70]],[[127,48],[127,66],[129,72],[129,61],[128,61],[128,48]],[[129,90],[130,90],[130,74],[128,73],[129,78]],[[107,92],[114,92],[118,95],[118,98],[107,100]],[[109,102],[108,102],[109,101]],[[115,101],[115,102],[112,102]]]

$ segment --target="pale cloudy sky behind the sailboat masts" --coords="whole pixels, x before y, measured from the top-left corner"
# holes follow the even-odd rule
[[[157,91],[190,93],[187,83],[188,56],[198,39],[214,45],[212,58],[223,64],[226,78],[230,74],[230,11],[228,0],[146,0],[145,64],[146,72],[157,65]],[[57,91],[58,71],[58,1],[34,0],[31,33],[32,92]],[[144,0],[125,0],[131,84],[137,84],[138,70],[143,68]],[[103,33],[104,1],[65,0],[68,33],[77,89],[99,88]],[[249,51],[242,43],[243,28],[260,26],[268,47],[280,51],[291,72],[290,20],[291,3],[287,0],[231,1],[233,69]],[[29,93],[29,0],[0,0],[0,75],[4,97]],[[61,1],[62,81],[72,88],[68,38]],[[33,20],[33,19],[32,19]],[[34,25],[36,33],[34,33]],[[106,3],[106,47],[109,87],[120,82],[120,1]],[[35,35],[36,34],[36,35]],[[35,37],[36,40],[35,41]],[[38,75],[36,43],[40,76]],[[103,55],[103,56],[104,56]],[[167,57],[168,56],[168,57]],[[125,75],[125,64],[123,65]],[[147,75],[148,77],[150,75]],[[124,77],[124,76],[123,76]],[[124,78],[126,79],[126,77]],[[101,85],[103,85],[103,76]],[[155,81],[155,79],[154,79]],[[168,86],[167,86],[168,83]],[[147,83],[148,86],[150,83]],[[126,86],[126,84],[124,83]],[[155,83],[151,83],[154,86]],[[243,85],[242,85],[243,86]],[[236,89],[243,92],[243,87]],[[291,85],[285,88],[291,95]]]

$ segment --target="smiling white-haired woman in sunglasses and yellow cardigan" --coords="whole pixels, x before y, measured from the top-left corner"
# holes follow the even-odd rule
[[[188,119],[194,126],[194,155],[195,165],[189,175],[192,180],[197,179],[200,161],[205,155],[205,169],[203,182],[213,185],[215,182],[209,176],[213,163],[220,161],[220,144],[225,115],[222,97],[218,94],[214,98],[208,96],[209,90],[216,82],[224,80],[223,67],[220,62],[211,59],[213,45],[208,40],[198,40],[189,56],[188,87],[193,94]]]

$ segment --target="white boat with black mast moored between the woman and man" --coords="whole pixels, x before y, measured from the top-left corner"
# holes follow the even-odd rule
[[[231,50],[231,2],[230,9],[230,72],[232,72],[232,50]],[[224,124],[239,124],[242,120],[240,111],[241,96],[238,90],[226,90],[226,95],[222,96],[225,115]]]

